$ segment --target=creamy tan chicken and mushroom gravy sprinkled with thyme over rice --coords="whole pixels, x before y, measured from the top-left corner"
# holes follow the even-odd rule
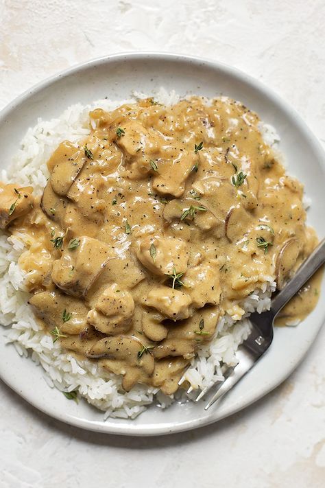
[[[54,340],[125,390],[173,393],[219,316],[240,320],[248,295],[282,288],[315,247],[302,185],[230,99],[148,99],[90,119],[89,137],[49,159],[40,201],[1,186],[1,224],[26,236],[19,264]],[[305,288],[279,323],[315,306]]]

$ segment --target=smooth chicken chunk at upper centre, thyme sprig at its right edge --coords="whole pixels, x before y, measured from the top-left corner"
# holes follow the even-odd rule
[[[182,196],[185,191],[186,179],[191,174],[197,158],[195,154],[182,154],[178,159],[159,162],[152,187],[162,195]]]

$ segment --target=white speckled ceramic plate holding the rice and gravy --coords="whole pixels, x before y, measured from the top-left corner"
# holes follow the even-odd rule
[[[108,97],[127,98],[132,90],[153,93],[160,86],[180,95],[229,95],[249,106],[278,130],[280,150],[290,174],[305,185],[313,200],[309,224],[325,235],[324,152],[317,139],[283,100],[236,69],[217,62],[170,54],[121,54],[88,62],[53,76],[21,95],[0,113],[0,165],[9,165],[19,142],[36,119],[57,117],[64,108]],[[248,406],[278,386],[297,367],[324,321],[325,289],[312,314],[298,327],[277,329],[264,358],[219,404],[206,412],[202,404],[149,408],[135,420],[108,419],[95,408],[69,402],[45,383],[43,370],[5,346],[0,327],[0,376],[5,383],[43,412],[74,426],[114,434],[155,435],[204,426]]]

